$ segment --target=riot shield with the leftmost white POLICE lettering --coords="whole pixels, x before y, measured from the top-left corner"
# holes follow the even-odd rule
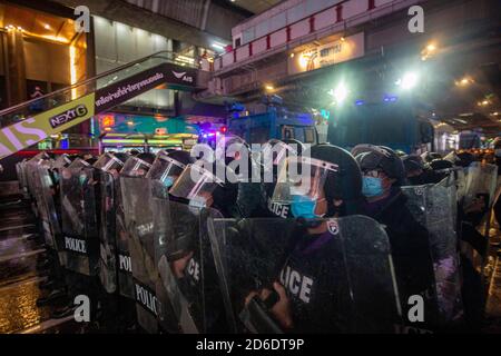
[[[65,267],[86,276],[96,275],[99,258],[98,187],[97,171],[92,167],[62,170],[60,189]]]

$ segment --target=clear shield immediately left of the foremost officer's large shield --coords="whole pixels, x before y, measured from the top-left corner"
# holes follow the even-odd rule
[[[159,195],[153,206],[160,325],[185,334],[228,332],[207,229],[222,215]]]

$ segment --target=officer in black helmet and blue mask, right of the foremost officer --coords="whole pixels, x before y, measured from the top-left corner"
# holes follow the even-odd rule
[[[428,231],[412,216],[400,187],[401,159],[391,149],[371,145],[353,149],[363,174],[365,214],[385,226],[401,293],[403,315],[413,295],[433,295],[433,263]]]

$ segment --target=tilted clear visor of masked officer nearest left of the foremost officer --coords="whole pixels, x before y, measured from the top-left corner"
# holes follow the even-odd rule
[[[186,167],[169,192],[175,197],[188,199],[193,206],[207,207],[210,205],[207,202],[213,199],[213,191],[223,184],[213,172],[195,164]]]

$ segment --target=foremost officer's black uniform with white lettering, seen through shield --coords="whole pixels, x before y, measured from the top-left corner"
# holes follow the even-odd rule
[[[354,313],[341,240],[330,231],[295,234],[297,244],[279,275],[291,298],[292,332],[347,332],[347,317]]]

